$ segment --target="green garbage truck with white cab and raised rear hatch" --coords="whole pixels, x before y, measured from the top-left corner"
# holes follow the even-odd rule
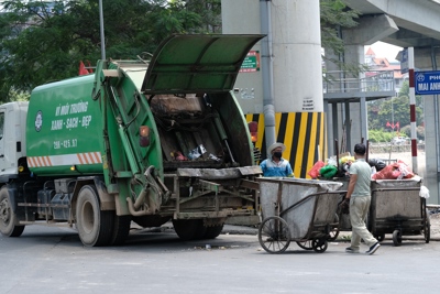
[[[151,58],[98,61],[0,106],[0,231],[66,226],[85,246],[133,222],[212,239],[255,216],[261,175],[232,88],[262,35],[173,35]],[[133,221],[133,222],[132,222]]]

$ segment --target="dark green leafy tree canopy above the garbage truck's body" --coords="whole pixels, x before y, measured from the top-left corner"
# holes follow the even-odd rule
[[[185,9],[185,1],[102,3],[107,55],[112,58],[138,58],[173,33],[202,31],[200,15]],[[11,89],[30,91],[37,85],[76,76],[79,61],[100,57],[98,0],[13,0],[0,4],[7,11],[0,15],[3,101],[10,99]]]

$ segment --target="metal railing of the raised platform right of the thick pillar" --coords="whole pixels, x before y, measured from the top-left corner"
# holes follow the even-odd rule
[[[324,73],[323,92],[394,91],[393,70],[370,70],[354,77],[352,73]]]

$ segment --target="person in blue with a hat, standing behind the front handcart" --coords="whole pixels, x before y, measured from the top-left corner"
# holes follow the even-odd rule
[[[294,177],[290,163],[282,156],[285,150],[286,146],[283,143],[273,143],[267,149],[271,157],[260,164],[264,176]]]

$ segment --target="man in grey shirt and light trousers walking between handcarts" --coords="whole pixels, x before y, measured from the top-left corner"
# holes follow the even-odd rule
[[[350,221],[352,227],[351,246],[345,249],[349,253],[359,253],[361,239],[370,249],[366,254],[373,254],[381,247],[380,242],[366,229],[365,218],[371,204],[371,167],[365,162],[365,145],[354,145],[354,159],[350,165],[350,183],[345,200],[350,202]]]

